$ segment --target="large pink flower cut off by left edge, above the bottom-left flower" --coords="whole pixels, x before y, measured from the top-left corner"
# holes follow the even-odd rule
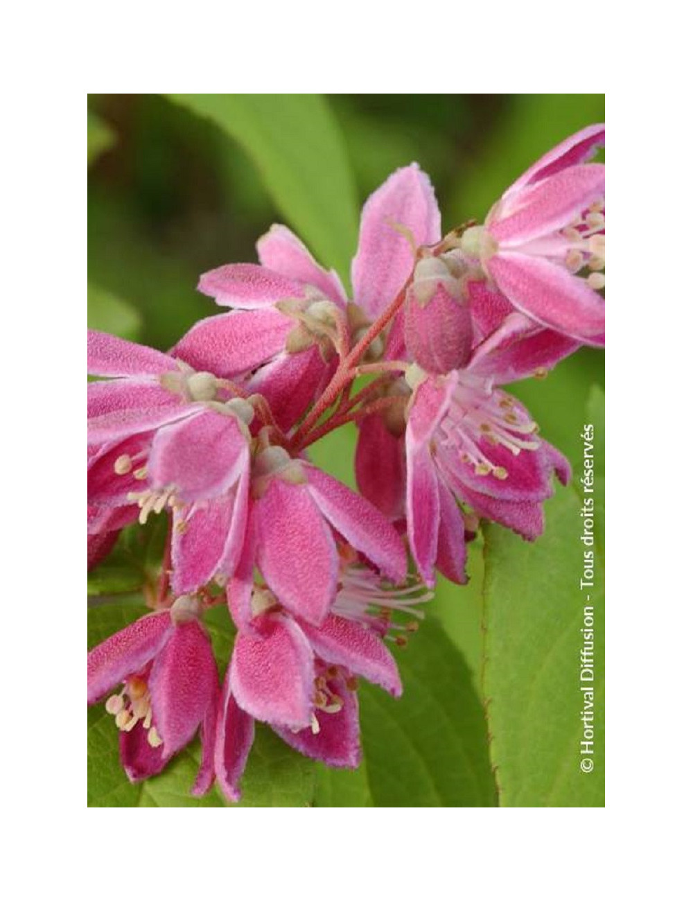
[[[223,378],[157,350],[89,332],[88,530],[175,510],[173,586],[183,594],[233,570],[248,509],[253,408]],[[137,505],[137,506],[133,506]]]

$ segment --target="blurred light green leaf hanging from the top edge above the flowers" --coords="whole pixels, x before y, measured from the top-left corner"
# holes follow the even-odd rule
[[[174,94],[219,125],[260,169],[299,236],[342,278],[356,250],[357,202],[342,133],[323,96]]]

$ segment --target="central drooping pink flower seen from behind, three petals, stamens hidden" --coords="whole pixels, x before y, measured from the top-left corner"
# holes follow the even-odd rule
[[[387,578],[406,576],[406,552],[386,517],[335,478],[292,459],[283,448],[260,451],[252,469],[248,529],[228,594],[234,619],[249,623],[255,567],[282,606],[321,625],[337,591],[336,535]]]

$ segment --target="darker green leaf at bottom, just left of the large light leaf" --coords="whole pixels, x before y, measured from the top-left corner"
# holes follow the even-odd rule
[[[401,698],[360,683],[361,740],[378,806],[493,806],[487,728],[470,669],[432,617],[397,654]]]

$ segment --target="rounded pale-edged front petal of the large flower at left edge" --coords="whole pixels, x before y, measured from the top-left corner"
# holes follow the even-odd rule
[[[176,487],[185,503],[227,491],[250,467],[248,435],[233,414],[203,410],[157,432],[148,464],[151,487]]]

